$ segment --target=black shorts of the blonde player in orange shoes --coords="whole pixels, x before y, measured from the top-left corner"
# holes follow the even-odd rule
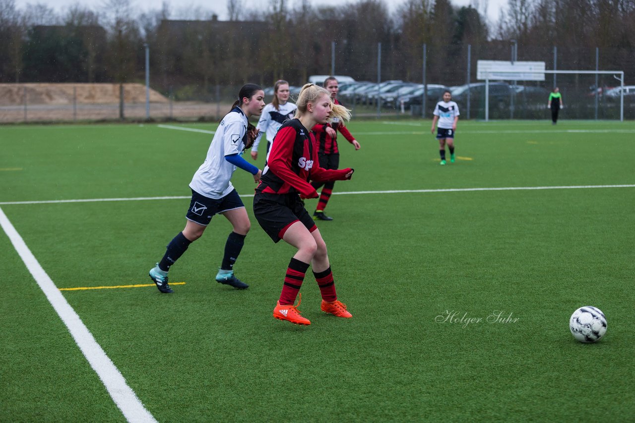
[[[274,242],[281,240],[289,226],[297,221],[302,222],[309,232],[318,228],[298,194],[256,192],[253,214]]]

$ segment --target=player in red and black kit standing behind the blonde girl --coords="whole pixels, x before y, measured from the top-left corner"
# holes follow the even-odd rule
[[[334,77],[328,77],[326,81],[324,81],[324,88],[326,88],[331,94],[331,101],[333,101],[336,105],[340,105],[341,103],[337,100],[337,93],[339,90],[337,79]],[[337,118],[333,119],[330,123],[317,124],[312,128],[312,131],[316,135],[319,166],[324,167],[324,169],[337,169],[340,166],[340,151],[337,148],[337,131],[340,131],[340,133],[344,135],[344,138],[355,146],[355,150],[359,150],[360,148],[358,141],[351,135],[349,130],[344,126],[343,122]],[[335,182],[324,183],[314,181],[311,185],[313,185],[313,188],[316,190],[319,190],[321,186],[324,186],[322,193],[319,196],[318,205],[313,214],[313,218],[316,220],[333,220],[333,218],[324,214],[324,209],[326,208],[328,200],[331,198]]]

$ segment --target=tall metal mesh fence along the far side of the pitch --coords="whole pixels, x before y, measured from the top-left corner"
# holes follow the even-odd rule
[[[494,47],[492,47],[492,45]],[[381,43],[366,46],[366,60],[347,60],[358,52],[330,44],[320,58],[323,74],[349,75],[355,84],[340,82],[340,100],[354,115],[366,117],[417,116],[430,118],[443,90],[451,89],[463,118],[548,119],[547,98],[559,86],[565,109],[561,119],[619,120],[624,94],[624,119],[635,119],[635,88],[629,81],[635,74],[634,58],[624,58],[624,90],[612,74],[554,74],[545,81],[485,81],[476,79],[477,60],[531,60],[545,62],[547,69],[577,70],[579,64],[594,63],[587,71],[607,68],[622,55],[621,50],[577,48],[518,48],[491,44],[464,46],[452,63],[439,59],[439,46],[424,45],[417,52],[386,48]],[[341,48],[341,49],[340,49]],[[509,48],[509,49],[508,49]],[[239,84],[211,84],[161,78],[159,65],[152,65],[146,48],[144,77],[128,84],[0,84],[0,122],[58,122],[85,120],[218,120],[237,97]],[[582,55],[585,60],[580,60]],[[446,56],[445,56],[446,57]],[[339,62],[336,62],[339,60]],[[358,63],[356,66],[353,63]],[[290,72],[293,75],[293,72]],[[263,82],[272,77],[255,74],[244,82]],[[294,79],[295,78],[295,79]],[[289,78],[291,91],[306,82]],[[259,81],[260,80],[260,81]],[[147,85],[146,85],[147,84]],[[272,88],[265,86],[265,101]],[[147,89],[147,88],[148,89]]]

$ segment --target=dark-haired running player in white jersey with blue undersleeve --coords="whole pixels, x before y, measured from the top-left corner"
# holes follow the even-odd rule
[[[183,255],[189,245],[203,235],[212,216],[222,214],[233,226],[225,243],[225,254],[216,281],[237,289],[249,287],[234,276],[234,263],[243,249],[244,238],[250,230],[249,216],[243,201],[231,183],[236,167],[253,175],[255,183],[260,181],[262,171],[243,159],[242,155],[258,135],[258,130],[249,123],[249,118],[262,112],[265,106],[262,88],[246,84],[241,88],[237,100],[214,134],[207,157],[198,168],[190,188],[192,199],[185,215],[185,229],[168,244],[163,259],[150,270],[150,279],[160,292],[171,293],[168,285],[168,270]]]

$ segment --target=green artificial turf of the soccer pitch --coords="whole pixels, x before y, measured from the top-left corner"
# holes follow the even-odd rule
[[[272,318],[294,250],[258,226],[241,170],[248,290],[214,281],[231,231],[216,216],[171,269],[175,294],[63,291],[154,418],[632,419],[635,188],[465,188],[635,184],[635,124],[459,122],[445,167],[430,121],[349,129],[362,148],[340,141],[340,166],[355,173],[318,227],[353,318],[319,311],[311,271],[312,325]],[[0,127],[0,208],[58,288],[151,283],[210,141],[150,124]],[[183,198],[130,200],[146,197]],[[20,204],[100,198],[121,200]],[[0,283],[0,420],[125,420],[3,231]],[[596,344],[568,329],[585,305],[608,320]]]

